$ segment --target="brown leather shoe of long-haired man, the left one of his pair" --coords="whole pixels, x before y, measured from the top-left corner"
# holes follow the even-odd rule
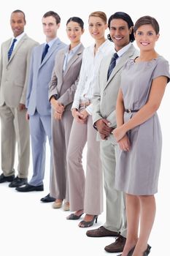
[[[101,226],[96,228],[95,230],[88,230],[86,232],[86,235],[90,237],[103,237],[103,236],[119,236],[120,233],[107,230],[107,228],[105,228],[104,226]]]

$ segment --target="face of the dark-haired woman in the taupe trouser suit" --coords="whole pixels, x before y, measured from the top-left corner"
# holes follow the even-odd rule
[[[80,24],[74,21],[70,21],[66,25],[66,34],[69,37],[71,43],[78,44],[80,43],[81,36],[84,32],[84,29],[81,28]]]

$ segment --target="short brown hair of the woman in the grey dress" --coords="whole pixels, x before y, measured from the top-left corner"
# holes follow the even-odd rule
[[[153,27],[153,29],[155,30],[156,34],[159,34],[159,24],[158,21],[150,16],[143,16],[141,18],[139,18],[138,20],[136,20],[136,23],[134,25],[134,33],[136,33],[136,30],[139,29],[140,26],[143,25],[151,25]]]

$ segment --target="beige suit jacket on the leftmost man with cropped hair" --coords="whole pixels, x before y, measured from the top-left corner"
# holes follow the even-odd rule
[[[0,106],[6,102],[9,107],[17,108],[19,103],[26,104],[31,50],[39,43],[24,34],[8,61],[7,53],[10,43],[11,39],[1,45]]]

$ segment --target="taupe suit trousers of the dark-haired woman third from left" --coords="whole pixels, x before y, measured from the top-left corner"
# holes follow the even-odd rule
[[[56,199],[66,199],[66,202],[69,202],[66,152],[69,145],[72,121],[71,110],[66,110],[61,120],[55,120],[52,116],[53,172],[50,195]]]

